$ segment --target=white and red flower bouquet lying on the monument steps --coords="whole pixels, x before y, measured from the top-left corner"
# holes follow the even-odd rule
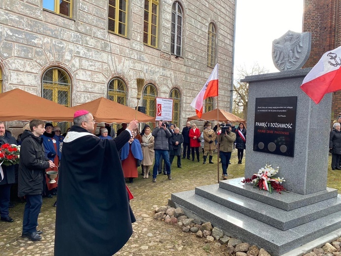
[[[258,173],[252,175],[251,179],[247,178],[242,180],[243,183],[251,182],[253,187],[259,187],[260,190],[269,191],[272,193],[274,190],[277,192],[285,191],[286,189],[281,185],[284,178],[274,177],[279,171],[279,167],[274,169],[271,164],[266,164],[265,167],[260,168]]]

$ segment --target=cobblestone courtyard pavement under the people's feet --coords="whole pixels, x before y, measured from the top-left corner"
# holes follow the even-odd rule
[[[244,164],[237,164],[236,152],[232,155],[232,164],[229,166],[229,178],[241,177],[244,174]],[[202,155],[202,154],[201,154]],[[217,155],[214,156],[217,163]],[[180,227],[164,224],[153,219],[155,205],[166,205],[173,192],[193,190],[197,186],[217,183],[217,164],[202,164],[191,160],[182,160],[183,168],[172,165],[173,180],[167,176],[158,175],[157,182],[149,179],[134,179],[128,184],[134,199],[130,204],[136,217],[133,224],[133,235],[127,244],[116,255],[124,256],[219,256],[224,255],[223,247],[212,243],[205,243],[204,238],[197,238],[194,234],[184,233]],[[221,169],[221,167],[220,167]],[[221,172],[221,170],[220,170]],[[140,173],[140,168],[139,168]],[[56,208],[53,207],[55,198],[44,198],[38,223],[43,230],[42,240],[32,242],[22,238],[22,218],[25,203],[15,202],[10,208],[13,223],[0,222],[0,255],[1,256],[52,256],[54,253],[54,232]]]

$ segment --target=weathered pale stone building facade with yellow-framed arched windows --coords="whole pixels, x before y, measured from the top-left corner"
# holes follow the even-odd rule
[[[134,107],[144,78],[140,106],[153,116],[155,97],[171,97],[172,121],[184,126],[216,63],[219,107],[229,110],[234,17],[235,0],[0,0],[1,91]]]

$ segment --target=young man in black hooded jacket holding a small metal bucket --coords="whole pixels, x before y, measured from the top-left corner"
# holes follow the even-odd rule
[[[45,158],[42,140],[39,137],[45,131],[45,123],[41,120],[32,120],[30,129],[21,135],[21,148],[18,174],[18,196],[25,196],[26,205],[23,218],[23,234],[32,241],[41,239],[38,231],[38,215],[40,212],[43,192],[44,170],[54,167],[53,161]]]

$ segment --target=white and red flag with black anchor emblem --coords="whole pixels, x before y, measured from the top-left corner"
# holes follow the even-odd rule
[[[318,104],[323,96],[341,90],[341,46],[323,54],[304,78],[301,89]]]

